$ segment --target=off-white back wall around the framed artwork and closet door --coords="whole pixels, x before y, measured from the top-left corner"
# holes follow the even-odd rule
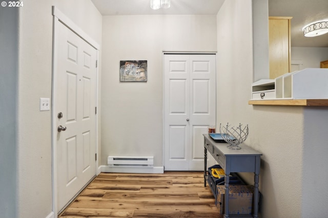
[[[101,164],[154,156],[162,166],[162,51],[216,51],[216,16],[104,16]],[[148,60],[147,82],[119,82],[120,60]]]

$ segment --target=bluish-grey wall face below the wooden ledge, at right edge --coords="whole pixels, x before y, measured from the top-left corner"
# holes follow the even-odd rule
[[[326,217],[328,107],[304,108],[302,217]]]

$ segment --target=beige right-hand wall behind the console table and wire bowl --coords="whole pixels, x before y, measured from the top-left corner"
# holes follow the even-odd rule
[[[253,82],[251,9],[251,0],[229,0],[217,15],[217,125],[249,124],[244,144],[263,154],[260,216],[301,217],[303,107],[248,104]],[[253,173],[242,176],[253,183]]]

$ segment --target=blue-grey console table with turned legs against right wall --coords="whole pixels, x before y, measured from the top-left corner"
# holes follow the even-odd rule
[[[207,151],[211,154],[218,164],[224,169],[224,208],[229,208],[229,175],[231,172],[254,172],[254,212],[253,216],[247,214],[231,214],[229,210],[224,210],[224,217],[258,217],[258,181],[260,173],[260,160],[262,154],[257,150],[241,145],[241,149],[230,149],[227,143],[217,143],[208,134],[204,136],[204,187],[206,187],[207,175]]]

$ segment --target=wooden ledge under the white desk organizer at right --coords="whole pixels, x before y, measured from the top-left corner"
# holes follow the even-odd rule
[[[328,99],[250,100],[253,105],[328,106]]]

